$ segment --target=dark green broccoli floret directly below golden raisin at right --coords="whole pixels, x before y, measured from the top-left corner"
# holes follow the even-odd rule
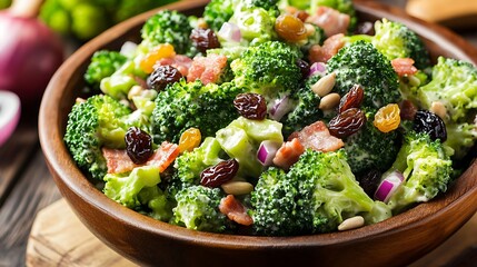
[[[400,136],[397,131],[385,134],[372,125],[374,113],[368,112],[366,117],[366,125],[344,139],[348,164],[357,175],[371,169],[387,170],[400,148]]]

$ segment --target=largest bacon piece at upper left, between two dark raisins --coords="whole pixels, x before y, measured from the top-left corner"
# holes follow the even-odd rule
[[[208,55],[207,57],[193,58],[189,69],[187,81],[199,79],[203,85],[216,82],[227,67],[227,57],[222,55]]]

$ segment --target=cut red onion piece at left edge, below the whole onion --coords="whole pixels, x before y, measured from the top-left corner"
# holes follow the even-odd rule
[[[20,98],[13,92],[0,91],[0,146],[17,127],[20,112]]]

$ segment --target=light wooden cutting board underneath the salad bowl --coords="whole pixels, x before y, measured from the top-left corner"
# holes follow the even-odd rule
[[[463,266],[459,260],[469,260],[469,256],[470,260],[477,259],[477,214],[446,243],[409,267]],[[38,212],[28,241],[27,266],[137,265],[102,244],[82,225],[66,200],[60,199]]]

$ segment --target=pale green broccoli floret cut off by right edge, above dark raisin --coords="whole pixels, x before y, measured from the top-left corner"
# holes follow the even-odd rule
[[[477,69],[469,62],[439,57],[431,80],[418,89],[424,108],[440,101],[454,122],[467,121],[477,110]]]

